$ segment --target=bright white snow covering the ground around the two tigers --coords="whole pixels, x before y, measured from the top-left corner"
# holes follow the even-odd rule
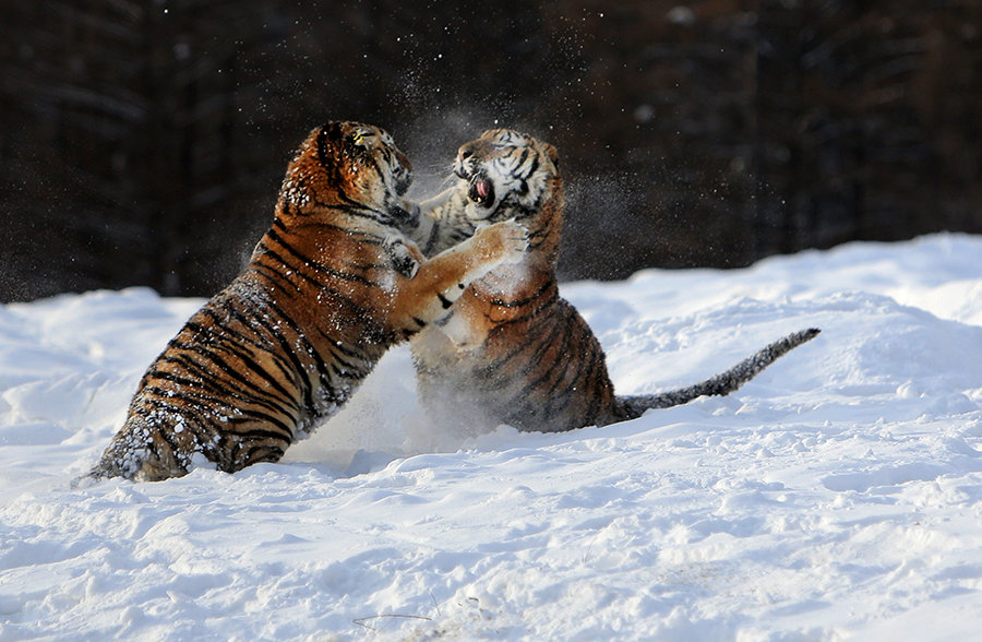
[[[278,464],[72,489],[201,301],[0,307],[0,641],[978,635],[982,238],[562,292],[622,393],[823,333],[729,397],[477,438],[399,348]]]

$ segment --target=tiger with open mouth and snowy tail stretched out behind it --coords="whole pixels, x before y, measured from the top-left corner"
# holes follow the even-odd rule
[[[818,329],[795,332],[695,385],[654,395],[616,395],[606,356],[576,309],[559,295],[555,264],[564,218],[554,146],[510,129],[462,145],[455,182],[412,204],[404,231],[424,253],[459,242],[480,225],[512,219],[529,230],[522,262],[475,281],[451,313],[410,342],[421,405],[444,425],[472,431],[505,424],[565,431],[639,417],[650,408],[738,390]]]

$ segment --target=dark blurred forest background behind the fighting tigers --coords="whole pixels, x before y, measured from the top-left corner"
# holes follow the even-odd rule
[[[4,0],[0,300],[208,295],[328,119],[555,144],[564,278],[982,231],[982,2]]]

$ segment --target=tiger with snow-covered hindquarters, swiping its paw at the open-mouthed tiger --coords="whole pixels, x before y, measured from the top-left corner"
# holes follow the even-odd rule
[[[88,477],[153,482],[278,461],[390,346],[522,259],[526,229],[501,222],[427,260],[396,227],[411,170],[382,129],[313,129],[287,166],[272,227],[146,370]]]

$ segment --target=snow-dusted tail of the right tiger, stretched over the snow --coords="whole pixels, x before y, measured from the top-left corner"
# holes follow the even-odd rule
[[[764,368],[803,343],[815,338],[822,332],[817,328],[809,328],[789,334],[752,356],[740,361],[726,372],[721,372],[688,388],[671,390],[660,394],[639,394],[618,396],[614,400],[616,421],[640,417],[650,408],[670,408],[691,402],[697,396],[726,396],[735,392],[741,385],[756,377]]]

